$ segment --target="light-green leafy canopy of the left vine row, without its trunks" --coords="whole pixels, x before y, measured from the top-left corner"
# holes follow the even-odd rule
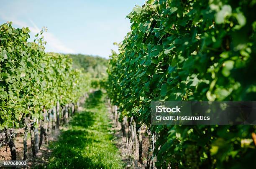
[[[90,87],[89,75],[72,69],[66,55],[44,52],[43,30],[0,25],[0,130],[19,127],[24,117],[43,119],[43,110],[77,102]]]

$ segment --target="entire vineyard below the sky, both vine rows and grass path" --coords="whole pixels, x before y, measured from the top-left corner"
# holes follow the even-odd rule
[[[108,61],[46,52],[45,27],[30,42],[0,25],[0,147],[28,160],[28,139],[33,159],[49,145],[37,167],[50,169],[255,168],[255,125],[151,124],[155,100],[256,100],[255,5],[148,0]]]

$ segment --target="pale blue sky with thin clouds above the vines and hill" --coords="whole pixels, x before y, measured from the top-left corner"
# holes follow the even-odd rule
[[[113,42],[130,31],[125,17],[145,0],[1,0],[0,24],[29,27],[31,38],[46,26],[46,51],[107,57]]]

